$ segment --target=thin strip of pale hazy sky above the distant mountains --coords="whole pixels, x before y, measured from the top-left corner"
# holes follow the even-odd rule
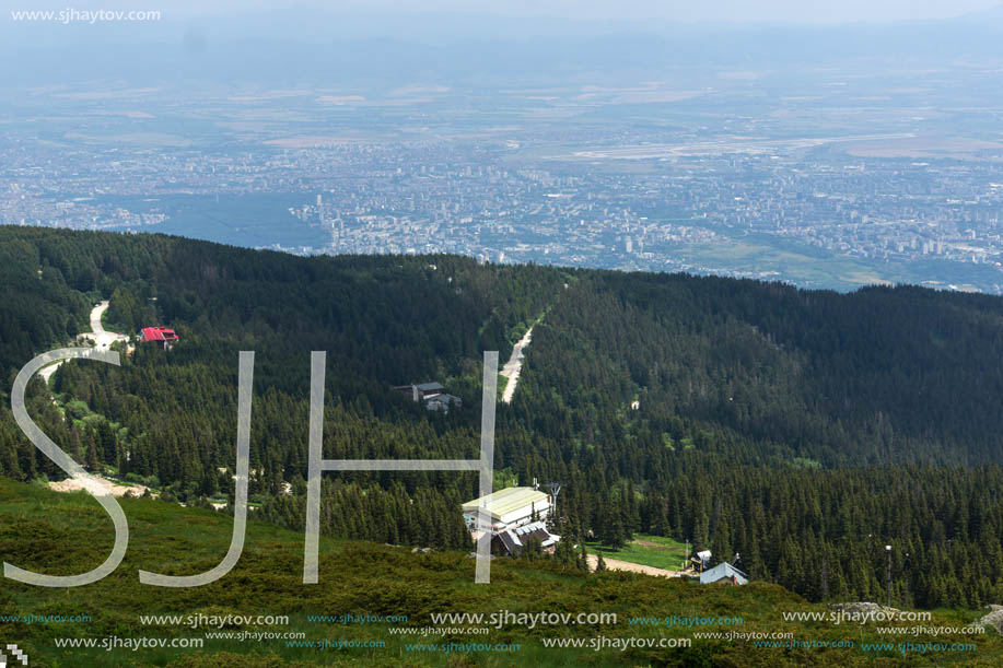
[[[658,19],[707,22],[885,22],[958,16],[999,5],[1000,0],[0,0],[14,10],[148,9],[165,20],[256,10],[298,9],[359,13],[462,12],[568,19]]]

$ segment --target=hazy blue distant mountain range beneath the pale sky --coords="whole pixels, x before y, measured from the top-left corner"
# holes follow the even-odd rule
[[[56,31],[45,21],[4,19],[0,54],[19,63],[4,84],[24,86],[96,79],[458,84],[674,66],[1003,59],[1001,8],[949,20],[845,25],[282,11]]]

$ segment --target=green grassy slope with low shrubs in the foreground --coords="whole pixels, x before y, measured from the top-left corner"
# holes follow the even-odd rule
[[[72,589],[30,587],[3,581],[0,614],[90,614],[90,623],[24,624],[0,622],[0,638],[18,643],[32,666],[777,666],[900,665],[901,655],[853,649],[756,648],[751,643],[698,640],[687,651],[544,648],[544,636],[608,637],[691,636],[714,628],[665,629],[630,625],[628,617],[740,617],[748,632],[793,631],[800,641],[879,642],[872,625],[862,629],[829,624],[785,623],[789,610],[825,610],[805,603],[783,588],[765,583],[745,587],[702,587],[681,581],[607,573],[583,578],[556,572],[548,563],[495,560],[491,584],[474,585],[474,562],[464,554],[416,555],[407,549],[361,542],[322,540],[320,584],[303,585],[303,536],[250,521],[244,553],[221,581],[189,589],[141,585],[137,571],[184,575],[215,565],[230,542],[230,518],[208,511],[182,508],[150,500],[123,500],[129,518],[130,546],[125,561],[105,579]],[[56,494],[37,485],[0,480],[0,556],[21,567],[49,574],[90,570],[107,554],[110,521],[84,493]],[[505,626],[490,635],[400,636],[387,624],[315,623],[307,614],[407,614],[410,626],[425,626],[431,612],[616,612],[619,623],[595,626]],[[248,626],[248,631],[303,631],[310,640],[383,641],[382,648],[291,648],[283,640],[206,640],[201,651],[58,649],[57,637],[202,637],[206,629],[142,626],[140,614],[289,614],[284,628]],[[975,612],[936,613],[928,625],[958,625]],[[932,642],[933,638],[909,638]],[[967,642],[968,636],[936,638]],[[409,652],[405,643],[518,643],[518,652],[467,655]],[[978,652],[933,653],[918,663],[968,663],[992,666],[1003,654],[1003,640],[976,641]],[[877,659],[876,661],[874,659]],[[872,663],[874,661],[874,663]]]

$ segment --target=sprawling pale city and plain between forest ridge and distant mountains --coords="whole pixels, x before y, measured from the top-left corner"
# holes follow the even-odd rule
[[[457,253],[816,288],[1003,290],[1003,144],[738,132],[695,141],[625,129],[616,144],[569,145],[530,128],[477,142],[305,137],[217,149],[3,134],[0,222],[303,255]],[[267,243],[246,234],[259,226]]]

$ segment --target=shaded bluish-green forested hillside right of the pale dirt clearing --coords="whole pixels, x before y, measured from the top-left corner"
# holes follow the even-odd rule
[[[713,424],[748,445],[732,452],[744,461],[1003,456],[996,297],[594,272],[558,303],[532,354],[546,373],[528,384],[563,388],[568,409],[622,409],[637,398],[639,438],[678,432],[676,419]],[[549,408],[553,418],[562,412]]]

